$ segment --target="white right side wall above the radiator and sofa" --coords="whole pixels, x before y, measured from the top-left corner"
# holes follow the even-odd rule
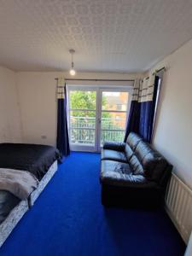
[[[154,146],[192,188],[192,40],[155,68],[166,66],[154,129]]]

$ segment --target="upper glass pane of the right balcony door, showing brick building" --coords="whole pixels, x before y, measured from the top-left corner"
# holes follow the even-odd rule
[[[103,91],[102,110],[126,111],[128,92]]]

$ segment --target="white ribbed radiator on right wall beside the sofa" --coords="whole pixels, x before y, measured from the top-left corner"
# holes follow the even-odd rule
[[[188,243],[192,230],[192,190],[173,173],[166,193],[166,212]]]

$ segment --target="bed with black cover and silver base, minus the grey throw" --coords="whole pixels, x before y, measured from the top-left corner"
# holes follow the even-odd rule
[[[39,181],[27,200],[20,201],[9,191],[0,190],[0,247],[54,176],[58,160],[61,161],[61,154],[51,146],[0,143],[0,168],[28,171]]]

